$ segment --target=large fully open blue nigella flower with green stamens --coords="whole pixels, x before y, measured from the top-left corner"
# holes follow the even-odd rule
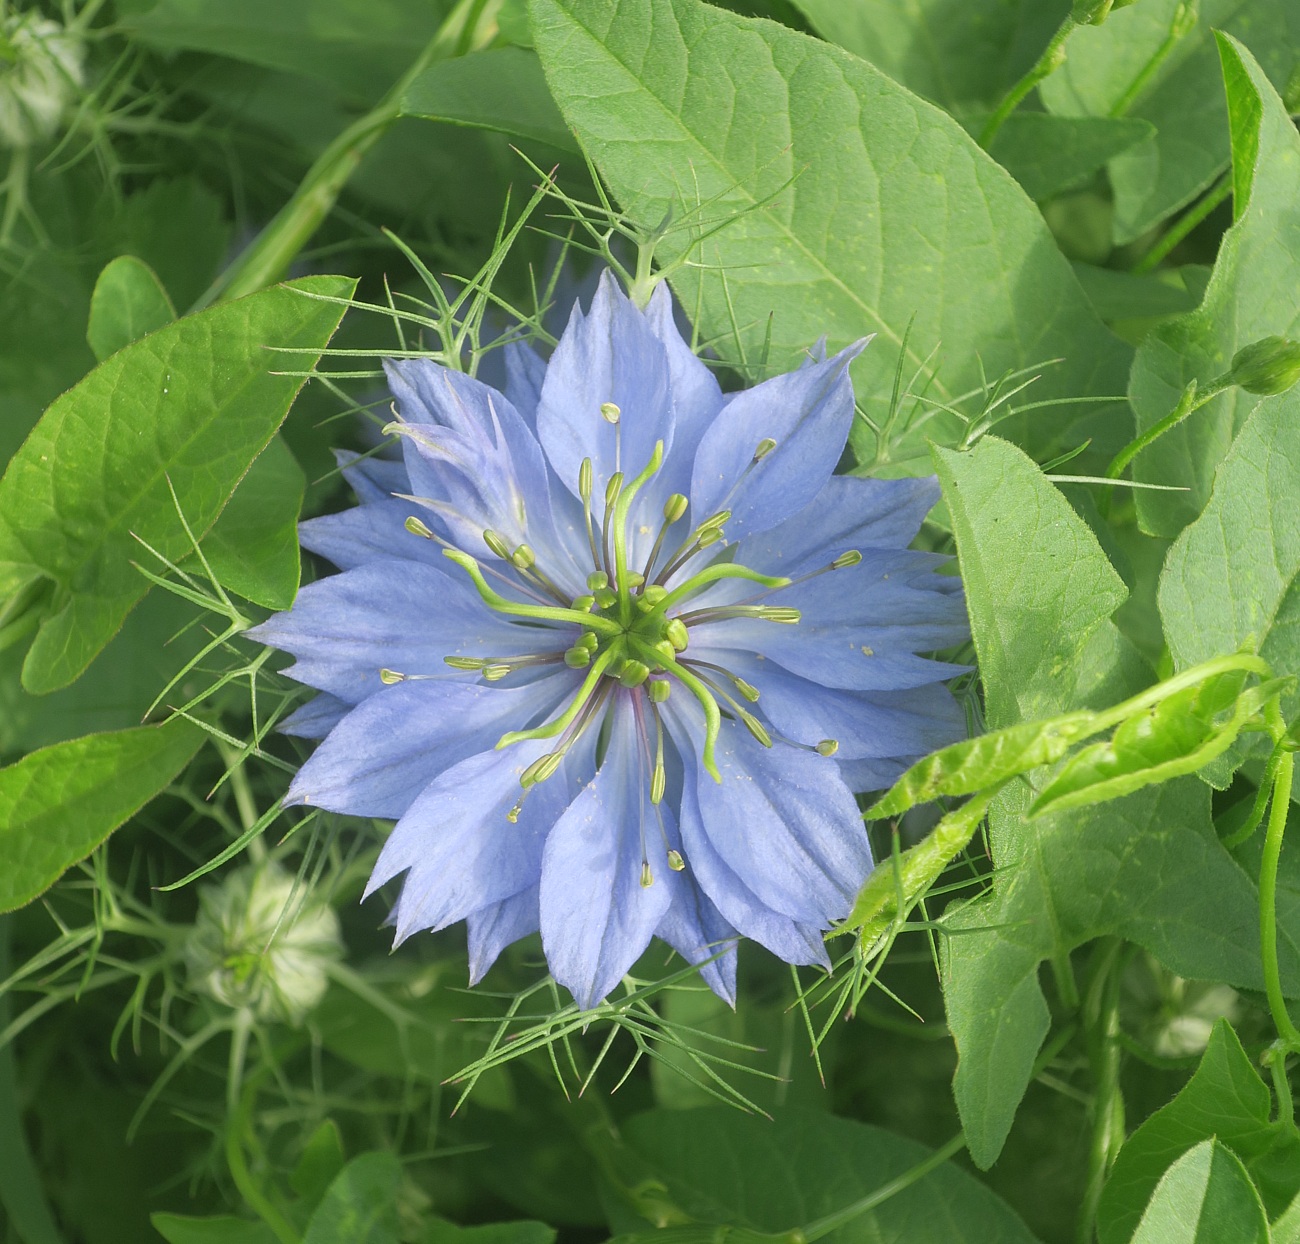
[[[608,274],[506,391],[390,363],[403,461],[303,545],[341,575],[255,636],[324,694],[290,799],[396,819],[398,940],[465,920],[478,980],[541,929],[584,1007],[662,937],[734,997],[734,939],[826,963],[871,868],[853,792],[952,742],[918,653],[966,634],[909,551],[932,481],[833,474],[864,343],[724,395]]]

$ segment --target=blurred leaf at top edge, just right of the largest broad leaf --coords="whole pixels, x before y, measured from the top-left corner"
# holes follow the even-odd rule
[[[1043,53],[1069,0],[794,0],[824,39],[946,108],[988,112]]]

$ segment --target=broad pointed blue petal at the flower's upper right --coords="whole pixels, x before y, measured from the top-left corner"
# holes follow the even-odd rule
[[[767,530],[802,510],[835,471],[853,424],[849,363],[866,341],[826,363],[736,394],[699,442],[690,485],[690,512],[699,523],[732,512],[731,539]],[[776,447],[754,461],[759,442]]]

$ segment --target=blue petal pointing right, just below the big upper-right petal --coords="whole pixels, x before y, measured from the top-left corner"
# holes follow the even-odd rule
[[[849,549],[905,549],[939,500],[939,482],[831,476],[798,513],[750,536],[736,560],[792,578],[828,565]]]

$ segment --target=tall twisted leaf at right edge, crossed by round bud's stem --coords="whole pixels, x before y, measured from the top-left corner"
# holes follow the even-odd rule
[[[1300,13],[1300,9],[1297,9]],[[1300,333],[1300,135],[1242,44],[1221,43],[1232,120],[1236,222],[1225,234],[1201,305],[1157,329],[1138,351],[1130,393],[1139,430],[1164,419],[1188,381],[1227,370],[1261,337]],[[1143,526],[1178,532],[1205,507],[1214,469],[1260,398],[1228,389],[1134,461],[1134,477],[1186,486],[1138,494]]]

